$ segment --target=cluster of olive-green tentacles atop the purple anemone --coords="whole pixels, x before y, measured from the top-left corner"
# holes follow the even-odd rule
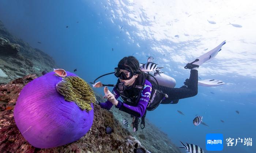
[[[91,86],[78,76],[66,76],[56,85],[57,91],[69,102],[75,102],[82,110],[90,111],[96,101]]]

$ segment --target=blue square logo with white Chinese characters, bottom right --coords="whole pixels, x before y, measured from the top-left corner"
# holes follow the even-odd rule
[[[223,134],[206,134],[206,150],[221,151],[223,149]]]

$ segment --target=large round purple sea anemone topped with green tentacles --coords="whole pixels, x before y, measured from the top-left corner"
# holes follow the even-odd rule
[[[61,77],[49,72],[22,89],[14,108],[15,123],[34,147],[65,145],[79,140],[91,128],[94,101],[91,87],[75,74],[67,72]]]

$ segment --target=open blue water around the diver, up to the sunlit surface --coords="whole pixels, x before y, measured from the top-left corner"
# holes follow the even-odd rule
[[[167,133],[176,146],[181,146],[179,142],[181,140],[182,142],[196,144],[207,152],[205,146],[206,134],[222,133],[224,140],[229,137],[234,138],[234,141],[238,137],[250,137],[253,141],[252,146],[237,144],[237,146],[227,147],[224,144],[222,152],[256,152],[256,71],[253,67],[253,64],[256,64],[256,55],[252,51],[252,48],[256,47],[255,29],[252,28],[254,31],[251,32],[251,35],[236,38],[236,35],[243,34],[242,30],[251,28],[250,25],[247,25],[247,22],[239,22],[243,25],[242,28],[228,25],[230,27],[224,30],[227,27],[224,23],[227,18],[223,19],[223,22],[219,21],[216,16],[221,16],[221,14],[216,11],[215,20],[219,25],[213,27],[215,25],[208,23],[208,18],[206,18],[204,20],[208,26],[206,27],[201,24],[203,22],[201,18],[197,17],[200,12],[189,16],[190,11],[188,11],[185,12],[186,16],[194,16],[195,19],[200,18],[198,24],[191,24],[186,22],[189,19],[184,20],[183,18],[169,21],[167,15],[166,24],[173,26],[184,20],[184,28],[183,26],[179,26],[179,28],[166,27],[166,31],[163,31],[167,33],[171,29],[172,36],[170,36],[170,39],[161,39],[159,37],[159,35],[162,35],[161,26],[152,24],[161,17],[159,15],[161,13],[154,7],[155,4],[160,4],[160,2],[143,3],[138,7],[152,3],[150,8],[152,16],[147,16],[146,13],[132,14],[132,11],[128,9],[133,7],[133,3],[128,1],[1,0],[0,20],[3,21],[11,34],[52,56],[60,66],[58,68],[64,68],[67,71],[73,71],[77,68],[76,74],[87,82],[92,82],[99,75],[113,72],[121,58],[133,54],[141,63],[145,63],[149,55],[154,56],[159,65],[169,67],[169,69],[165,68],[163,70],[167,72],[166,74],[173,76],[177,82],[176,87],[180,87],[185,79],[189,77],[189,70],[182,68],[186,62],[193,60],[196,57],[194,55],[196,52],[202,52],[205,48],[209,48],[207,50],[209,51],[223,40],[227,40],[225,46],[222,47],[222,51],[214,60],[199,67],[200,78],[220,79],[226,82],[225,85],[218,87],[199,86],[198,94],[195,97],[181,99],[176,105],[160,105],[154,111],[148,111],[147,118]],[[214,7],[215,3],[217,2],[208,2],[207,4],[212,4],[212,7]],[[162,1],[161,4],[167,5],[169,3]],[[182,7],[176,8],[177,4],[171,6],[170,10],[174,10],[174,13],[182,9]],[[244,4],[244,7],[250,9],[251,7],[246,4]],[[238,8],[239,5],[232,6]],[[184,5],[184,8],[187,7]],[[215,9],[212,7],[210,9]],[[228,4],[223,4],[222,7],[223,9],[227,8]],[[120,11],[118,11],[120,8],[128,13],[123,12],[120,15]],[[195,8],[192,6],[191,11]],[[162,10],[169,9],[163,7]],[[251,12],[248,10],[247,16],[255,16],[255,12],[255,9]],[[234,13],[236,13],[234,16],[237,16],[237,20],[239,16],[243,16],[243,12],[237,11]],[[248,17],[248,20],[251,19],[250,17]],[[134,22],[138,18],[143,19],[139,22],[142,27],[138,24],[136,26]],[[234,22],[234,20],[232,21]],[[250,21],[248,22],[250,23]],[[123,28],[120,29],[122,26]],[[182,40],[185,37],[182,35],[183,33],[196,32],[195,30],[189,31],[187,28],[192,26],[199,27],[197,28],[198,35],[191,34],[188,36],[189,39],[186,37]],[[148,27],[154,27],[154,31],[147,30]],[[187,30],[183,32],[182,30],[185,28]],[[224,32],[221,30],[222,28]],[[204,35],[200,30],[207,31],[209,34]],[[210,35],[211,31],[217,32]],[[178,38],[174,37],[177,32],[179,33]],[[37,42],[41,42],[41,44]],[[204,48],[197,48],[200,45]],[[166,49],[165,47],[169,48]],[[244,48],[244,50],[239,50],[239,48]],[[227,54],[225,54],[225,51]],[[177,55],[177,58],[172,58],[175,55]],[[169,66],[166,64],[169,64]],[[100,79],[103,83],[116,83],[116,80],[115,76],[106,76]],[[103,93],[102,89],[95,89],[95,91],[100,94]],[[177,110],[182,111],[185,116],[179,114]],[[236,110],[240,114],[237,114]],[[209,127],[204,125],[194,126],[192,121],[196,114],[202,115],[203,121]],[[222,123],[220,120],[225,122]],[[185,152],[185,150],[181,151]]]

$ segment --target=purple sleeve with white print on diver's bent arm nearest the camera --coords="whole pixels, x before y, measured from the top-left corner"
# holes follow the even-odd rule
[[[144,88],[140,94],[140,99],[137,106],[130,106],[121,101],[118,101],[117,108],[128,114],[136,117],[142,117],[147,109],[147,104],[151,95],[152,85],[147,80],[145,81]]]

